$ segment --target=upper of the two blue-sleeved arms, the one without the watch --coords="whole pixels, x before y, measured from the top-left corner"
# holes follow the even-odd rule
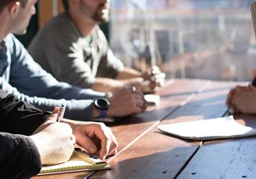
[[[58,82],[50,73],[44,71],[34,62],[28,51],[13,35],[8,36],[11,67],[10,84],[25,95],[46,97],[50,99],[95,99],[105,93],[82,89],[70,84]],[[55,63],[54,67],[61,64]]]

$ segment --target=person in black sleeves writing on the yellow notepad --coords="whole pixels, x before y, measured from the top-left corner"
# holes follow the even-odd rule
[[[0,95],[1,178],[30,178],[41,165],[63,163],[72,155],[74,143],[103,160],[116,154],[116,138],[103,123],[56,122],[58,108],[50,114],[13,95],[3,98],[3,91]]]

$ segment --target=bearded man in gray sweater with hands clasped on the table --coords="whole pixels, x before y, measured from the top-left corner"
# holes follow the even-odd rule
[[[30,54],[57,80],[74,86],[102,92],[142,86],[144,93],[151,93],[163,84],[165,75],[159,69],[141,73],[125,68],[114,56],[98,27],[109,20],[109,3],[63,0],[65,12],[36,34]]]

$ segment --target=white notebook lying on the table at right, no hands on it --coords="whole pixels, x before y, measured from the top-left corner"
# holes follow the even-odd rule
[[[255,129],[240,125],[234,120],[233,116],[171,123],[160,125],[158,129],[174,136],[195,141],[231,139],[256,135]]]

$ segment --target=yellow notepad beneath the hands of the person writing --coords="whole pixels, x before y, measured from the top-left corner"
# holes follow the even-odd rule
[[[109,169],[110,165],[103,160],[100,160],[98,156],[89,155],[82,152],[79,149],[74,150],[70,160],[66,163],[58,165],[43,165],[38,175],[44,174],[62,174],[72,171],[90,171]]]

